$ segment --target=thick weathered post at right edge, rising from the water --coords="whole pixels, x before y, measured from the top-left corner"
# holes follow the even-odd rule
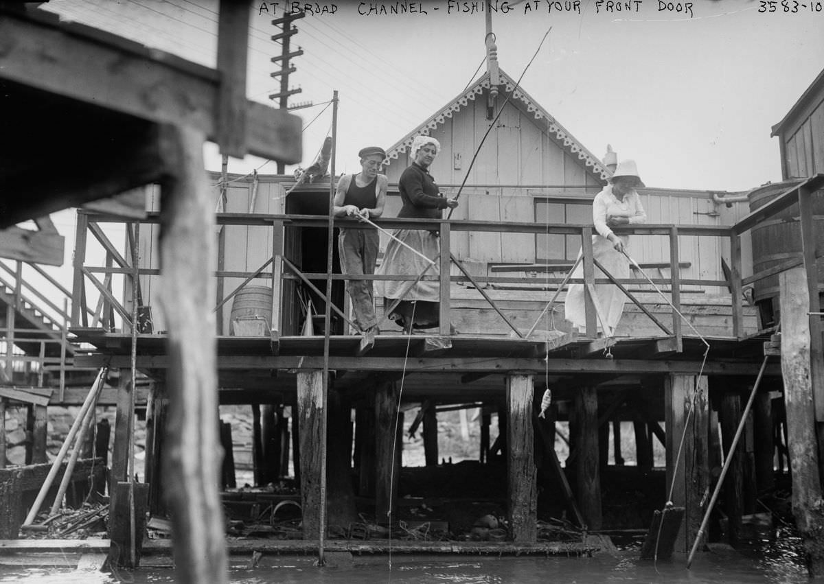
[[[805,271],[782,272],[781,373],[784,377],[784,407],[787,411],[787,446],[793,475],[793,515],[804,540],[807,566],[812,577],[824,575],[824,555],[820,543],[822,489],[819,477],[816,437],[816,409],[813,407],[810,337],[810,294]]]

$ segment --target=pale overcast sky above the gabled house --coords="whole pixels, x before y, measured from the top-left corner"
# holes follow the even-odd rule
[[[359,170],[361,147],[391,147],[485,70],[475,73],[485,58],[485,2],[253,1],[252,100],[272,103],[269,94],[279,90],[270,76],[279,67],[269,59],[281,50],[269,38],[279,30],[271,21],[293,4],[311,7],[292,38],[304,54],[293,59],[290,86],[302,92],[290,104],[314,104],[293,111],[304,126],[302,166],[331,132],[333,91],[339,174]],[[522,77],[522,89],[593,154],[602,157],[609,143],[620,159],[634,158],[652,187],[742,191],[780,180],[770,129],[824,68],[824,8],[816,0],[777,0],[775,12],[761,0],[489,4],[498,7],[492,28],[500,67]],[[396,5],[412,13],[361,13]],[[51,0],[44,8],[215,63],[216,1]],[[204,152],[208,169],[219,171],[217,147]],[[229,161],[230,172],[253,169],[274,174],[276,166]]]

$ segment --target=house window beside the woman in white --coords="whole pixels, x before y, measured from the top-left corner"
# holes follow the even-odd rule
[[[592,201],[571,199],[535,199],[536,223],[570,223],[592,225]],[[535,237],[536,263],[569,259],[574,261],[581,249],[580,236],[560,234]]]

